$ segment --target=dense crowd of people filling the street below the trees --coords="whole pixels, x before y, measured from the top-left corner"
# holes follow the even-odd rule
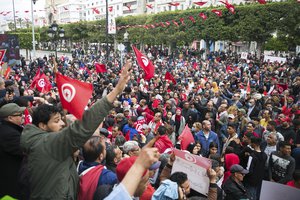
[[[300,189],[300,67],[292,59],[145,54],[151,80],[130,53],[124,66],[110,54],[97,73],[101,52],[22,60],[0,77],[0,198],[254,200],[263,180]],[[30,87],[38,70],[51,90]],[[62,108],[56,70],[93,84],[82,119]],[[186,126],[194,142],[183,148]],[[210,159],[208,194],[172,173],[173,148]]]

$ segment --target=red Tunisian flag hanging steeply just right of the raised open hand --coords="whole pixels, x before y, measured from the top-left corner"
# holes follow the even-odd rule
[[[143,68],[145,72],[145,80],[150,80],[154,76],[154,66],[152,62],[144,56],[135,46],[132,45],[132,49],[134,50],[136,60],[141,68]]]

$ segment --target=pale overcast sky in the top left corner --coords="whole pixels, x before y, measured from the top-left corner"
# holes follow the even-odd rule
[[[31,0],[14,0],[15,1],[15,11],[16,16],[18,18],[30,18],[31,17]],[[12,19],[13,18],[13,0],[0,0],[1,6],[0,6],[0,13],[1,12],[8,12],[11,11],[11,13],[7,14],[6,16],[0,15],[1,20],[5,19]],[[33,9],[35,10],[43,10],[44,9],[45,0],[37,0],[36,4],[33,6]],[[17,12],[18,11],[18,12]],[[25,13],[25,11],[29,11],[28,13]],[[35,13],[37,15],[38,13]]]

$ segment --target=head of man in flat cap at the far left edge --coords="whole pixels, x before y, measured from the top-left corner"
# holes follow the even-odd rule
[[[20,107],[15,103],[5,104],[0,108],[0,119],[20,126],[23,123],[25,109],[25,107]]]

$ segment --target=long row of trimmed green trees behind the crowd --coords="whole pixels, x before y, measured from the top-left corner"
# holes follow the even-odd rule
[[[218,17],[212,9],[222,11]],[[193,7],[184,11],[167,11],[151,15],[127,16],[116,19],[118,27],[126,27],[117,31],[115,36],[118,42],[123,41],[125,31],[129,33],[131,43],[183,45],[194,40],[204,39],[206,42],[216,40],[229,41],[256,41],[264,44],[272,42],[272,34],[277,32],[279,38],[284,38],[285,44],[296,46],[300,44],[300,6],[296,1],[273,2],[265,5],[251,3],[235,5],[235,14],[230,13],[223,5],[219,7]],[[207,15],[203,21],[199,13]],[[189,16],[195,19],[193,23]],[[184,19],[182,25],[180,19]],[[179,26],[172,22],[175,20]],[[167,26],[165,22],[170,22]],[[165,27],[161,26],[161,22]],[[156,28],[145,29],[143,25],[156,25]],[[141,25],[141,26],[135,26]],[[134,27],[133,27],[134,26]],[[77,22],[63,25],[67,39],[71,41],[101,42],[105,38],[105,20],[92,22]],[[47,29],[39,29],[42,41],[48,41]],[[113,42],[113,36],[109,36]],[[267,45],[266,47],[269,48]]]

